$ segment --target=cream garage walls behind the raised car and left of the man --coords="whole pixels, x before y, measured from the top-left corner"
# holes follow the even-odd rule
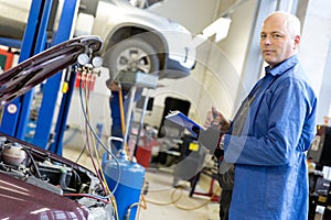
[[[239,2],[236,4],[236,2]],[[190,4],[190,8],[188,6]],[[181,22],[194,33],[224,14],[229,6],[235,4],[228,36],[215,43],[214,36],[197,47],[197,64],[190,77],[175,81],[168,80],[166,88],[157,92],[177,91],[192,102],[190,117],[203,122],[212,106],[222,109],[232,117],[236,107],[234,100],[241,84],[241,73],[248,45],[248,36],[254,21],[256,0],[247,1],[200,1],[168,0],[153,11]],[[191,8],[192,6],[192,8]],[[199,19],[197,19],[199,18]],[[162,81],[163,84],[163,81]],[[162,100],[162,99],[160,99]],[[159,105],[162,105],[159,103]],[[157,117],[157,116],[156,116]],[[150,121],[156,120],[156,117]],[[149,118],[146,119],[147,121]]]

